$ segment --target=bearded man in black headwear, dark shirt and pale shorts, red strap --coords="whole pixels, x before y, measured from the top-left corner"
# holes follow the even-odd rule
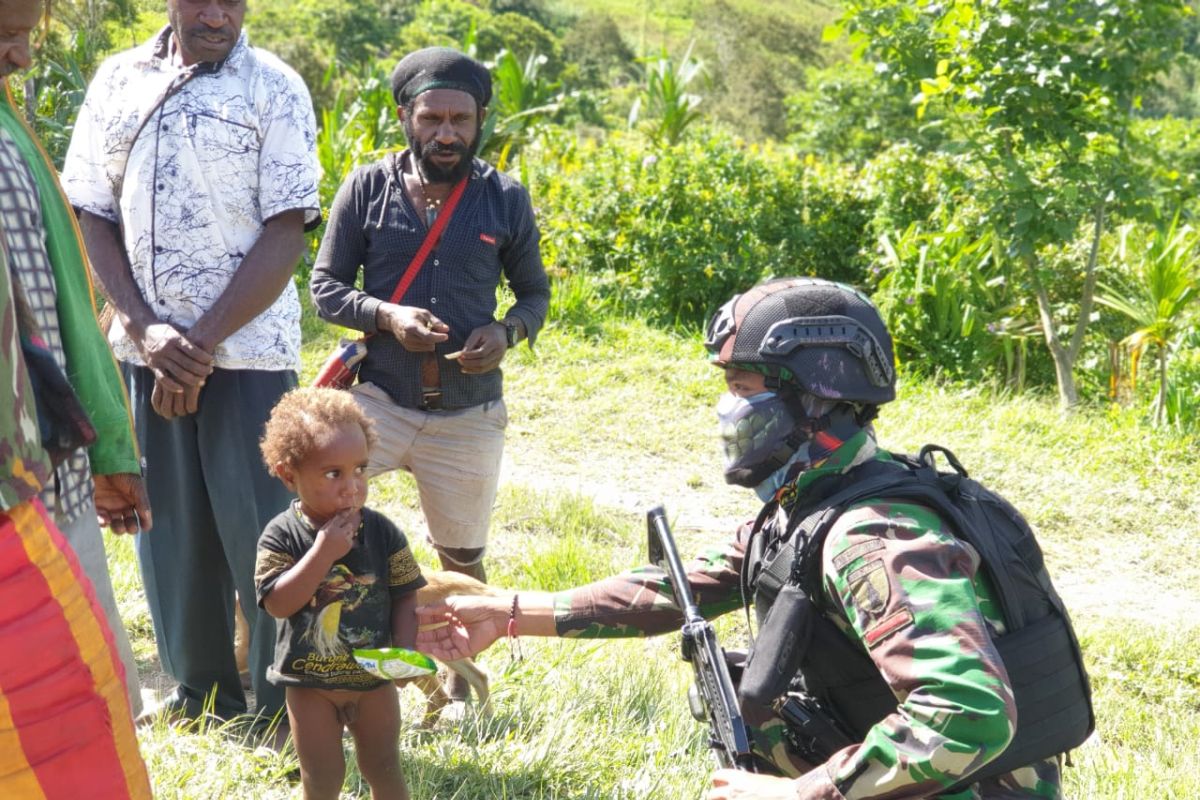
[[[376,335],[353,389],[379,434],[368,473],[409,470],[442,565],[482,581],[508,423],[499,365],[536,338],[550,284],[529,193],[474,157],[487,68],[427,48],[400,61],[391,85],[409,146],[338,190],[312,299],[323,319]],[[416,259],[439,215],[449,215],[444,229]],[[392,299],[410,265],[407,291]],[[502,279],[516,302],[497,318]]]

